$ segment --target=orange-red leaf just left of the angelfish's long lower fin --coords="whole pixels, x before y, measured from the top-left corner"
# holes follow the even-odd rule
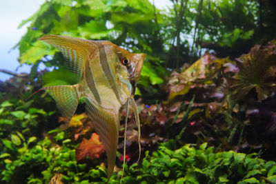
[[[103,144],[99,141],[99,136],[93,133],[90,139],[83,138],[81,145],[76,150],[76,160],[81,161],[90,156],[91,159],[99,158],[104,152]]]

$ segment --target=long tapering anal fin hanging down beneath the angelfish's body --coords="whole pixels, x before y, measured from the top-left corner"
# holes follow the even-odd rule
[[[119,115],[86,99],[86,112],[95,127],[108,157],[108,181],[114,170],[119,137]]]

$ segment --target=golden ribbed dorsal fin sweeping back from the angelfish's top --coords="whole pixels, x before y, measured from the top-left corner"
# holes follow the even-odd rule
[[[85,39],[59,35],[44,36],[40,40],[45,41],[60,50],[63,57],[65,57],[69,68],[79,77],[82,74],[83,65],[88,59],[89,49],[93,46],[96,47],[91,44],[90,41]]]

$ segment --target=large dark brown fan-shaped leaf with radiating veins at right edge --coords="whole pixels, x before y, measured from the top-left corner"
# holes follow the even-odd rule
[[[276,45],[271,41],[265,45],[255,45],[248,54],[242,54],[237,59],[239,72],[234,76],[236,82],[231,87],[237,100],[244,99],[253,88],[259,101],[273,94],[275,50]]]

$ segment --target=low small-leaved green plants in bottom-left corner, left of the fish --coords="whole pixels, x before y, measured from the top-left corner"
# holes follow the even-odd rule
[[[62,131],[57,133],[55,139],[60,139],[62,133],[64,134]],[[106,180],[106,171],[102,167],[77,163],[75,147],[68,145],[70,142],[68,139],[64,138],[63,145],[60,146],[46,138],[28,149],[28,145],[35,140],[35,137],[31,137],[28,141],[21,140],[23,146],[19,147],[20,151],[15,157],[8,152],[0,155],[1,164],[6,164],[1,172],[1,181],[48,183],[55,174],[62,174],[63,183],[88,183],[89,179],[102,181],[101,176],[103,181]],[[10,144],[14,145],[14,141]],[[93,165],[99,165],[95,161],[92,162]]]

